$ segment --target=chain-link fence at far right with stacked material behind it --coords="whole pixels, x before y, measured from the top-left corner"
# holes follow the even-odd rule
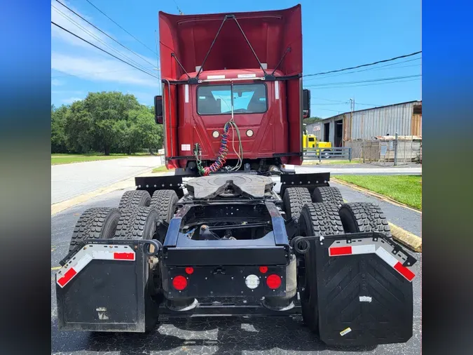
[[[357,148],[361,147],[361,155],[359,157],[363,163],[398,166],[422,162],[422,140],[413,136],[359,141],[355,145]],[[359,148],[356,153],[359,154]],[[358,158],[355,154],[352,157]]]

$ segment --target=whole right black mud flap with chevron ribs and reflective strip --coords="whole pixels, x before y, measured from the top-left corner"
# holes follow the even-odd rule
[[[412,337],[415,258],[378,233],[327,236],[311,246],[323,342],[389,344]]]

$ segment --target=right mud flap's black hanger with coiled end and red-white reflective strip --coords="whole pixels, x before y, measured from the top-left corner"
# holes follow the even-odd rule
[[[291,241],[291,247],[299,255],[308,253],[311,246],[328,246],[329,257],[341,257],[345,255],[376,254],[384,262],[389,264],[408,281],[412,281],[416,274],[411,270],[417,262],[392,239],[381,233],[350,233],[335,236],[295,236]]]

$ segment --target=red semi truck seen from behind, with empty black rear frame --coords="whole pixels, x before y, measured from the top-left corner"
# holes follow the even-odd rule
[[[301,314],[327,344],[412,337],[412,266],[381,208],[296,174],[301,6],[159,14],[155,98],[174,175],[79,218],[56,275],[62,330],[145,332],[160,314]],[[279,188],[277,188],[279,186]]]

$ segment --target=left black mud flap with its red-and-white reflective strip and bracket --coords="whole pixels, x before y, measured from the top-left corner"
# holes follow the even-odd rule
[[[68,255],[56,274],[59,329],[144,332],[149,242],[96,239]]]

